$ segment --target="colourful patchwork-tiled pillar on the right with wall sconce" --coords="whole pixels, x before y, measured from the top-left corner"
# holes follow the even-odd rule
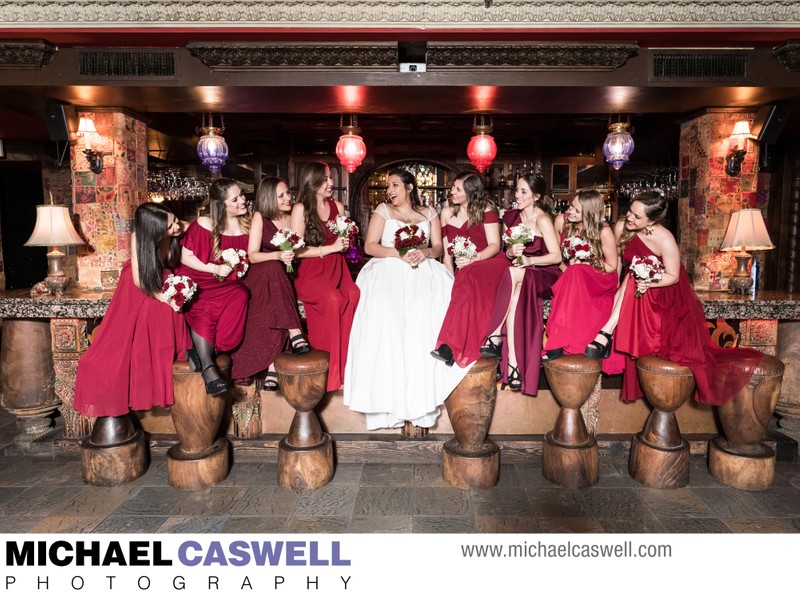
[[[758,145],[749,143],[740,175],[725,173],[734,124],[752,123],[754,117],[751,112],[709,110],[681,126],[679,244],[695,289],[726,289],[736,270],[733,256],[719,252],[731,213],[759,208],[766,219],[769,174],[758,172]]]

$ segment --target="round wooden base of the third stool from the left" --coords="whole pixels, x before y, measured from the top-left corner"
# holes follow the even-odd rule
[[[333,440],[323,433],[313,446],[292,446],[286,438],[278,443],[278,483],[286,490],[316,490],[333,479]]]

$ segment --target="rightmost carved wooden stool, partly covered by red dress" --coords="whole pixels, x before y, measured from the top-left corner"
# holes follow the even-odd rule
[[[734,371],[751,372],[747,385],[717,409],[724,436],[708,445],[708,470],[720,483],[759,491],[775,479],[775,451],[762,440],[780,396],[784,364],[765,355],[755,369]]]

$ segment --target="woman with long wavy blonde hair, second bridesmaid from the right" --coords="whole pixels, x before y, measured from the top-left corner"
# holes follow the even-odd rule
[[[604,202],[597,190],[581,190],[572,199],[566,215],[556,218],[562,248],[577,238],[591,248],[587,260],[566,260],[564,274],[553,284],[550,317],[547,319],[547,351],[543,360],[583,353],[600,327],[608,320],[619,286],[617,241],[603,221]],[[603,372],[622,372],[621,355],[603,360]]]

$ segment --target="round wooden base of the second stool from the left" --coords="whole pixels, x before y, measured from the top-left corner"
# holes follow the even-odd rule
[[[215,486],[230,472],[230,442],[218,438],[204,452],[189,453],[180,444],[167,451],[167,481],[178,490],[195,491]]]

